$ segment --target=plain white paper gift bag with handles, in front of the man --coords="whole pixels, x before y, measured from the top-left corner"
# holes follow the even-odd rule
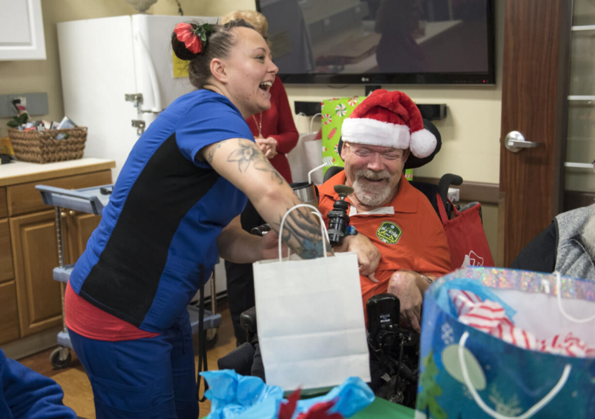
[[[302,206],[317,211],[296,205]],[[253,271],[267,384],[288,391],[336,386],[352,376],[370,381],[355,253],[281,260],[280,251],[278,259],[255,262]]]

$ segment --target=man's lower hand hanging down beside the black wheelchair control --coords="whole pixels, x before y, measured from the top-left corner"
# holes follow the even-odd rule
[[[421,333],[422,290],[419,282],[424,279],[414,271],[396,271],[390,277],[388,292],[399,297],[400,315],[406,318],[415,332]]]

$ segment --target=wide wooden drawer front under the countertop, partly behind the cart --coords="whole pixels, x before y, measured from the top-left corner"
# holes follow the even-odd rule
[[[65,189],[79,189],[112,183],[111,170],[96,171],[93,173],[77,174],[76,176],[57,177],[55,179],[40,180],[39,182],[21,183],[20,185],[7,186],[6,196],[8,214],[11,217],[27,214],[34,211],[48,209],[43,204],[43,199],[35,185],[49,185]]]

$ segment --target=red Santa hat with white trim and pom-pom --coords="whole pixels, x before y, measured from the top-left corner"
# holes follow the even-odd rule
[[[343,121],[344,142],[411,149],[415,157],[428,157],[436,137],[424,128],[414,102],[403,92],[374,90]]]

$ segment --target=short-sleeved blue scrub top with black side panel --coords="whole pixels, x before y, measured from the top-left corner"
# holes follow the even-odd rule
[[[215,239],[248,201],[197,156],[230,138],[254,140],[226,96],[195,90],[161,112],[130,152],[74,267],[74,292],[147,332],[167,329],[209,278]]]

